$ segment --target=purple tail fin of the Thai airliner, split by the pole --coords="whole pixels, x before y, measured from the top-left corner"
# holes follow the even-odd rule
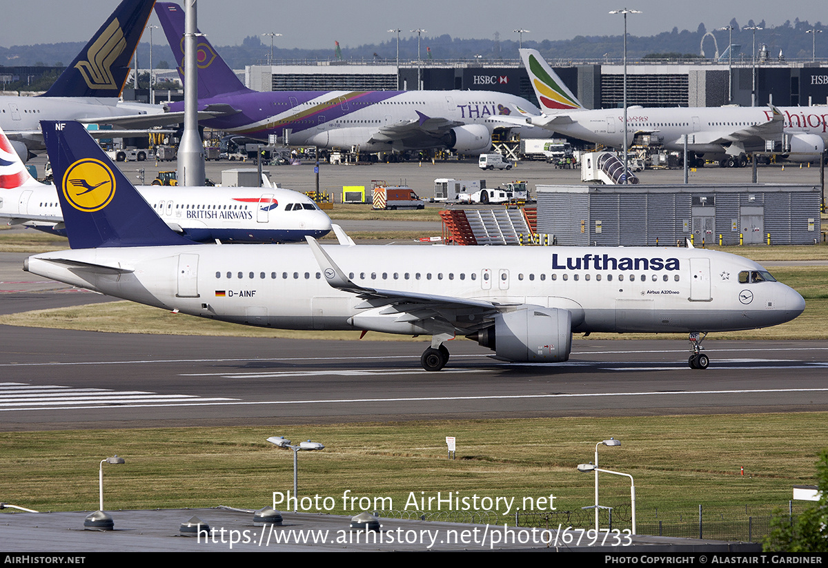
[[[166,41],[176,57],[178,75],[184,82],[184,9],[172,2],[158,2],[156,15],[164,28]],[[233,70],[210,45],[205,36],[198,38],[199,99],[211,99],[221,94],[251,92]]]

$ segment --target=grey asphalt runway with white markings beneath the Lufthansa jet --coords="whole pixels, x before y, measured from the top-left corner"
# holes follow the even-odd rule
[[[39,430],[828,410],[826,342],[576,341],[570,362],[500,363],[425,342],[126,335],[0,326],[0,428]]]

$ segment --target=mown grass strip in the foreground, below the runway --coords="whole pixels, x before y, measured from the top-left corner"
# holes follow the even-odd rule
[[[402,509],[409,492],[538,498],[558,510],[593,500],[592,476],[575,466],[593,459],[632,474],[639,522],[705,511],[782,506],[792,485],[813,483],[816,455],[828,439],[825,413],[726,416],[638,416],[479,421],[414,421],[330,426],[156,428],[0,433],[7,503],[36,510],[97,508],[99,460],[106,508],[229,505],[261,508],[273,491],[292,486],[292,453],[268,436],[320,441],[325,450],[300,458],[300,494],[336,499],[390,497]],[[657,436],[654,433],[657,432]],[[445,436],[457,437],[457,460]],[[744,475],[740,468],[744,467]],[[628,479],[604,476],[602,503],[628,502]],[[284,507],[283,507],[284,508]]]

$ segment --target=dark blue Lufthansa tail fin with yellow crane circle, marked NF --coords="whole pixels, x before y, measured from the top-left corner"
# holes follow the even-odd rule
[[[194,244],[169,227],[83,125],[41,121],[71,248]]]

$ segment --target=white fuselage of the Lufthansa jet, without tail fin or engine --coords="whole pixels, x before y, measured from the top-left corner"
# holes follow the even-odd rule
[[[570,311],[574,332],[748,330],[792,320],[805,306],[802,296],[781,282],[751,283],[752,272],[763,272],[756,262],[702,249],[324,250],[364,288],[475,299],[511,306],[507,311],[561,308]],[[86,271],[78,263],[127,272]],[[26,270],[109,296],[240,324],[423,333],[399,313],[374,309],[372,301],[329,286],[310,247],[301,244],[79,249],[32,256]],[[457,333],[480,324],[474,310],[457,315],[457,321]]]

